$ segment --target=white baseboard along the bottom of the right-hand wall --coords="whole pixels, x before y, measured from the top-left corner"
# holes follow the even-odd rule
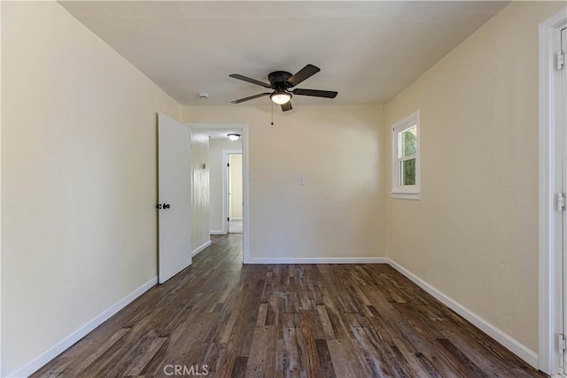
[[[388,260],[388,264],[396,269],[401,274],[408,277],[408,279],[417,286],[427,291],[432,297],[435,297],[439,300],[443,305],[447,305],[451,310],[461,315],[464,319],[469,320],[476,328],[483,331],[486,335],[492,337],[498,343],[501,343],[506,349],[511,351],[512,353],[516,354],[517,357],[520,359],[524,359],[525,362],[533,366],[536,370],[538,369],[538,353],[532,351],[530,348],[526,347],[523,343],[518,342],[513,337],[510,337],[506,333],[502,332],[501,329],[496,328],[493,324],[489,323],[488,321],[482,319],[476,313],[470,311],[465,306],[455,302],[450,297],[447,297],[445,294],[441,293],[438,289],[433,288],[429,283],[424,282],[421,278],[417,277],[416,274],[413,274],[408,271],[403,266],[400,266],[398,263],[395,263],[390,258],[386,258]]]

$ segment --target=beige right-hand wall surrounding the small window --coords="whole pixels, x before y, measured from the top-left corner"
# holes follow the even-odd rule
[[[385,106],[388,127],[421,110],[422,199],[387,196],[390,258],[536,353],[538,24],[563,6],[509,5]]]

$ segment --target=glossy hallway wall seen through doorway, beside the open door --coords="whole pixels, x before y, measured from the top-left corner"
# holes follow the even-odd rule
[[[205,165],[205,167],[203,167]],[[209,207],[209,135],[204,131],[191,133],[191,227],[193,251],[211,240]]]

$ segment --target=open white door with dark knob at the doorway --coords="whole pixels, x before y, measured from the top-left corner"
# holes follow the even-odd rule
[[[159,283],[191,265],[189,127],[158,116]]]

